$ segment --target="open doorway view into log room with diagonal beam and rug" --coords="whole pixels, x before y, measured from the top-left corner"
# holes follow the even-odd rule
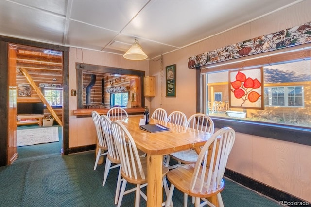
[[[63,53],[12,43],[9,48],[14,50],[17,70],[17,161],[60,155]]]

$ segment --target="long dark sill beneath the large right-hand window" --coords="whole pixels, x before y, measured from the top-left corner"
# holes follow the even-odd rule
[[[311,129],[277,125],[257,121],[242,121],[210,116],[215,128],[231,127],[236,132],[259,137],[274,138],[282,141],[294,142],[311,146]]]

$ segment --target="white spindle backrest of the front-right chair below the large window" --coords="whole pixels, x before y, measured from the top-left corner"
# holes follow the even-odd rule
[[[218,130],[207,140],[195,164],[190,190],[194,189],[198,179],[200,181],[198,190],[202,193],[216,191],[221,186],[234,141],[235,131],[229,127]],[[208,155],[209,153],[211,156]],[[208,157],[211,157],[209,169],[207,168]]]

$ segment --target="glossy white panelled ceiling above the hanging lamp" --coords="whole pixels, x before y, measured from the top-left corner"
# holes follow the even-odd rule
[[[149,59],[301,0],[0,0],[0,35]]]

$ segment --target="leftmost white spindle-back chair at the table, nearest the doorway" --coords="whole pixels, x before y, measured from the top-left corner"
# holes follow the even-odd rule
[[[97,168],[97,163],[99,161],[99,157],[100,156],[104,156],[107,155],[108,152],[108,146],[107,146],[107,142],[104,139],[104,134],[103,134],[103,129],[101,126],[101,121],[100,121],[100,115],[97,111],[92,111],[92,118],[94,121],[94,125],[96,128],[96,134],[97,134],[97,148],[98,148],[98,152],[96,155],[96,160],[95,160],[95,165],[94,165],[94,170],[96,170]]]

